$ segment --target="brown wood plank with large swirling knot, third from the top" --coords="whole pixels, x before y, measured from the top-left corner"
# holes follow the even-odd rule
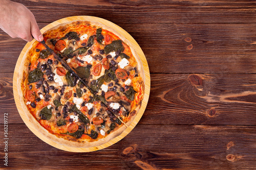
[[[13,99],[12,73],[0,78],[0,112],[9,113],[10,124],[23,124]],[[254,74],[151,74],[150,100],[139,124],[255,125],[255,119]]]

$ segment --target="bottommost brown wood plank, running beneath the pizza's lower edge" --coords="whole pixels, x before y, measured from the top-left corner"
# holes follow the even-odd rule
[[[73,169],[74,165],[77,169],[256,168],[255,126],[137,125],[111,147],[90,153],[55,149],[31,134],[26,125],[8,128],[8,169]],[[0,147],[5,148],[3,139]],[[122,154],[129,147],[136,149]],[[3,163],[0,167],[7,168]]]

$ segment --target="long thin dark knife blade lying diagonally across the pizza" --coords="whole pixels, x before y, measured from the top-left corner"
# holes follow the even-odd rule
[[[65,62],[63,61],[47,44],[46,44],[46,41],[45,40],[42,40],[42,41],[39,41],[42,45],[44,45],[46,47],[46,50],[48,50],[66,69],[68,69],[72,75],[74,75],[84,86],[86,86],[92,93],[94,96],[98,96],[97,94],[94,93],[94,91],[88,86],[88,84],[86,82],[84,82],[77,74],[75,71],[73,71],[72,68],[70,68],[70,66]],[[115,113],[114,111],[112,111],[112,109],[110,108],[110,106],[108,106],[108,104],[104,103],[103,101],[101,101],[105,106],[106,108],[108,108],[113,114],[115,114],[119,119],[120,119],[120,116]],[[120,119],[120,121],[126,126],[128,127],[123,121],[122,119]]]

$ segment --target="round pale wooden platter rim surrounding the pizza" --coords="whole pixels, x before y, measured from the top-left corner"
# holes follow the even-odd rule
[[[91,147],[91,148],[74,148],[74,147],[67,147],[66,145],[60,145],[58,143],[55,143],[55,142],[51,141],[50,139],[48,139],[47,137],[45,137],[44,135],[39,133],[33,127],[30,120],[26,116],[26,114],[25,114],[25,112],[22,108],[22,105],[20,103],[20,96],[18,95],[18,90],[17,90],[17,85],[18,85],[17,84],[17,76],[18,76],[18,72],[19,72],[19,66],[22,62],[23,56],[26,54],[30,45],[35,40],[33,40],[31,42],[28,42],[25,45],[25,47],[23,48],[23,51],[20,53],[20,55],[18,57],[16,66],[15,66],[15,70],[14,70],[14,75],[13,75],[13,94],[14,94],[14,100],[15,100],[15,104],[17,106],[18,112],[19,112],[20,116],[22,117],[24,123],[41,140],[45,141],[46,143],[52,145],[55,148],[58,148],[58,149],[64,150],[64,151],[69,151],[69,152],[91,152],[91,151],[97,151],[97,150],[109,147],[110,145],[118,142],[123,137],[125,137],[127,134],[129,134],[133,130],[133,128],[137,125],[137,123],[139,122],[140,118],[142,117],[142,115],[145,111],[145,108],[146,108],[146,105],[147,105],[147,102],[148,102],[148,98],[149,98],[149,95],[150,95],[150,70],[148,68],[146,58],[145,58],[139,44],[135,41],[135,39],[129,33],[127,33],[121,27],[115,25],[115,23],[113,23],[111,21],[108,21],[108,20],[105,20],[105,19],[102,19],[102,18],[98,18],[98,17],[93,17],[93,16],[71,16],[71,17],[62,18],[62,19],[59,19],[57,21],[54,21],[54,22],[50,23],[48,26],[42,28],[40,31],[41,31],[41,33],[44,33],[45,31],[59,25],[60,23],[66,23],[66,22],[75,21],[75,20],[86,20],[86,21],[92,21],[92,22],[99,22],[99,23],[102,23],[105,26],[108,26],[108,27],[116,30],[123,37],[125,37],[127,40],[130,41],[130,43],[133,45],[136,53],[140,57],[140,60],[141,60],[142,65],[143,65],[144,74],[145,74],[145,94],[144,94],[144,99],[142,101],[141,108],[140,108],[138,114],[136,115],[136,117],[134,118],[133,122],[131,123],[131,125],[129,127],[127,127],[119,136],[115,137],[114,139],[110,140],[109,142],[104,143],[102,145],[99,145],[97,147]]]

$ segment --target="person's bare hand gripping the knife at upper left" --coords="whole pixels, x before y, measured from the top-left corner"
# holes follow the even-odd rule
[[[22,38],[37,41],[44,38],[37,26],[32,12],[24,5],[9,0],[2,0],[0,4],[0,28],[12,38]]]

